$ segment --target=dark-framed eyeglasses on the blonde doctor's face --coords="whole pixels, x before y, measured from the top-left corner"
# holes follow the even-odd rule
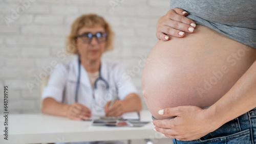
[[[79,38],[82,43],[91,43],[93,37],[95,37],[98,43],[102,43],[106,41],[107,35],[107,33],[103,32],[97,32],[96,34],[83,33],[81,35],[76,36],[76,38]]]

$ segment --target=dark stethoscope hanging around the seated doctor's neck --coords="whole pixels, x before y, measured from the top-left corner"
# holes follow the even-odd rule
[[[76,82],[76,94],[75,94],[75,102],[77,103],[78,102],[78,90],[79,90],[79,86],[80,86],[80,73],[81,73],[81,60],[80,60],[80,57],[78,56],[78,76],[77,76],[77,82]],[[98,81],[103,81],[105,86],[106,86],[106,89],[108,90],[109,89],[109,83],[106,82],[106,80],[101,76],[101,64],[99,66],[99,77],[95,80],[94,82],[94,94],[95,94],[95,91],[97,89],[97,82]]]

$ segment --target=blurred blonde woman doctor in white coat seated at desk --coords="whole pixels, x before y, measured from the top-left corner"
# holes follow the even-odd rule
[[[141,110],[135,86],[122,77],[124,68],[101,60],[104,52],[113,49],[113,35],[109,23],[95,14],[81,15],[73,22],[66,51],[77,57],[55,67],[42,93],[42,113],[80,121]]]

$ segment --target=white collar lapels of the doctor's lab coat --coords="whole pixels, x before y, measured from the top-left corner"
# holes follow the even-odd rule
[[[102,59],[100,60],[101,64],[101,77],[103,77],[105,80],[108,81],[108,68],[107,64],[105,61]],[[70,70],[69,70],[69,75],[68,75],[68,80],[72,82],[77,82],[77,76],[78,76],[78,56],[74,58],[74,60],[71,61],[70,63]],[[87,71],[84,69],[83,66],[81,66],[81,72],[80,72],[80,83],[83,85],[86,85],[87,87],[92,87]]]

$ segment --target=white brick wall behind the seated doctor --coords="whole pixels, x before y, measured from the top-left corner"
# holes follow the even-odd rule
[[[15,113],[39,112],[39,88],[30,93],[26,83],[33,82],[33,75],[38,76],[42,66],[54,60],[62,62],[56,53],[65,46],[76,17],[96,13],[108,20],[116,33],[115,50],[103,58],[132,69],[158,41],[157,20],[169,9],[169,0],[116,1],[120,2],[116,7],[109,0],[37,0],[26,8],[19,0],[0,2],[0,86],[11,87],[10,107]],[[64,61],[72,58],[68,56]],[[141,72],[142,68],[133,82],[142,98]]]

